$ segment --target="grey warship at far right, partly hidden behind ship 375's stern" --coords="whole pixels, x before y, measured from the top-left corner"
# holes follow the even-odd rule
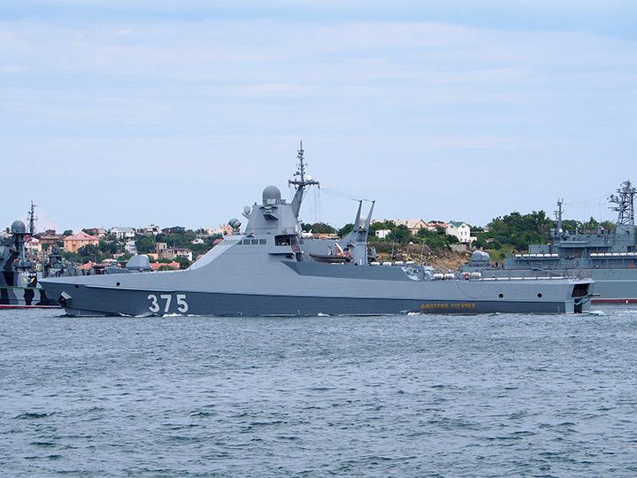
[[[505,258],[501,267],[491,266],[488,254],[476,251],[461,271],[491,278],[586,274],[595,281],[594,303],[637,303],[636,192],[631,181],[625,181],[609,197],[610,207],[618,212],[612,229],[564,230],[563,202],[557,201],[551,243],[531,244],[528,253]]]

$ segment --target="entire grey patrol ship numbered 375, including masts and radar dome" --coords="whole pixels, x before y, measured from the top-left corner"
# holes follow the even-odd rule
[[[155,274],[109,274],[42,280],[47,295],[71,315],[379,315],[400,312],[586,312],[589,278],[485,279],[439,277],[431,267],[370,261],[366,216],[358,204],[354,229],[341,240],[303,238],[299,212],[305,190],[303,144],[291,201],[268,186],[262,200],[233,219],[232,235],[192,266]],[[334,247],[334,249],[332,249]],[[334,251],[342,251],[343,261]],[[319,258],[315,260],[314,258]]]

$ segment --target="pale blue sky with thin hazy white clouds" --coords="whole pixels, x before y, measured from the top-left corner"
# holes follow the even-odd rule
[[[301,219],[614,220],[637,3],[4,0],[0,227],[218,227],[303,140]],[[365,208],[369,207],[365,202]]]

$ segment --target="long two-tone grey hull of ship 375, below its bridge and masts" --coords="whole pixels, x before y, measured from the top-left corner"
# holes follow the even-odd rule
[[[234,254],[228,249],[226,258],[217,258],[218,264],[194,270],[43,283],[73,315],[572,313],[587,310],[592,291],[592,281],[564,278],[414,281],[400,266],[296,262],[277,258],[278,254],[253,261],[245,274],[234,271],[233,279],[226,267],[233,266]],[[261,268],[263,274],[258,272]]]

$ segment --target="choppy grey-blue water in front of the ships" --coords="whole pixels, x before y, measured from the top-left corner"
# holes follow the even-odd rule
[[[637,475],[637,307],[0,312],[0,475]]]

